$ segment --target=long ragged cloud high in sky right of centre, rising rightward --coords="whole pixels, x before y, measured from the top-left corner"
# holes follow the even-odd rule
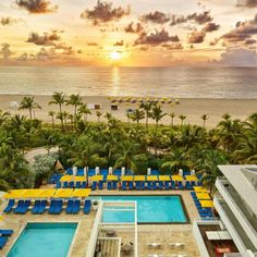
[[[186,22],[189,22],[189,21],[193,21],[193,22],[195,22],[199,25],[203,25],[203,24],[206,24],[208,22],[211,22],[212,20],[213,20],[213,17],[210,16],[210,11],[204,11],[203,13],[196,13],[195,12],[195,13],[188,14],[186,16],[184,16],[184,15],[180,15],[180,16],[172,15],[170,25],[175,26],[178,24],[186,23]]]

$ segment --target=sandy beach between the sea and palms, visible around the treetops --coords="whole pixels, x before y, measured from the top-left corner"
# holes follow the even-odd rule
[[[19,110],[17,108],[11,107],[11,101],[21,102],[24,96],[21,95],[0,95],[0,109],[11,112],[28,115],[27,110]],[[49,106],[48,102],[51,99],[51,96],[35,96],[36,102],[41,106],[41,110],[35,111],[35,117],[41,119],[46,122],[50,122],[51,118],[48,115],[50,110],[58,111],[58,106]],[[107,97],[83,97],[85,103],[100,103],[101,112],[111,111],[111,100]],[[136,103],[121,103],[119,105],[119,110],[111,111],[115,118],[126,121],[125,111],[127,108],[137,108]],[[230,113],[233,118],[245,120],[249,114],[257,111],[257,100],[256,99],[180,99],[180,105],[170,106],[163,105],[163,111],[167,113],[175,112],[179,114],[185,114],[187,123],[191,124],[203,124],[200,119],[201,114],[206,113],[209,115],[209,120],[206,125],[208,127],[215,126],[220,120],[223,113]],[[73,113],[73,108],[65,106],[63,108],[68,112]],[[101,118],[103,119],[103,118]],[[88,121],[96,121],[96,112],[91,111],[91,115],[88,115]],[[144,121],[143,121],[144,122]],[[154,122],[154,121],[150,121]],[[171,119],[164,117],[161,121],[162,124],[170,124]],[[176,117],[174,119],[174,124],[180,124],[181,121]]]

